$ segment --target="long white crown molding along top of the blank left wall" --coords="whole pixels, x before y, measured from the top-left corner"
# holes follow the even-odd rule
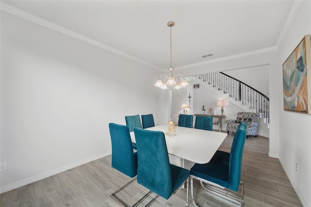
[[[35,15],[30,14],[28,12],[25,12],[25,11],[23,11],[21,9],[18,9],[18,8],[14,7],[14,6],[11,6],[9,4],[6,4],[4,2],[0,2],[0,10],[2,10],[4,12],[7,12],[7,13],[9,13],[11,15],[15,15],[15,16],[21,17],[21,18],[26,19],[28,21],[34,22],[34,23],[39,24],[41,26],[47,27],[47,28],[52,29],[54,31],[61,32],[61,33],[66,34],[66,35],[68,35],[70,37],[73,37],[73,38],[76,38],[78,40],[84,41],[84,42],[86,42],[88,44],[94,45],[94,46],[102,48],[104,50],[113,52],[113,53],[115,53],[117,55],[120,55],[122,57],[130,59],[132,61],[138,62],[140,64],[143,64],[143,65],[152,67],[154,69],[163,71],[163,68],[161,68],[161,67],[158,67],[158,66],[156,66],[154,64],[151,64],[151,63],[148,63],[146,61],[143,61],[143,60],[141,60],[141,59],[139,59],[137,57],[134,57],[134,56],[132,56],[130,54],[122,52],[122,51],[120,51],[120,50],[118,50],[116,48],[112,48],[112,47],[110,47],[108,45],[105,45],[105,44],[99,42],[99,41],[96,41],[94,39],[86,37],[86,36],[84,36],[84,35],[82,35],[82,34],[80,34],[78,32],[73,32],[73,31],[71,31],[69,29],[66,29],[65,27],[62,27],[62,26],[57,25],[57,24],[54,24],[54,23],[52,23],[52,22],[50,22],[50,21],[48,21],[46,19],[43,19],[43,18],[41,18],[39,16],[35,16]]]

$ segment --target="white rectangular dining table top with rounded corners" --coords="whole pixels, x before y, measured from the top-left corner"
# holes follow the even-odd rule
[[[168,132],[168,125],[146,128],[148,130]],[[130,132],[132,142],[135,141],[134,132]],[[204,164],[209,162],[219,146],[225,140],[226,133],[207,131],[196,128],[176,127],[176,136],[165,135],[169,154],[192,162]]]

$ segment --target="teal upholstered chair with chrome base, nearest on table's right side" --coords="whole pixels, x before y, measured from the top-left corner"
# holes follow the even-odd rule
[[[231,146],[230,153],[217,151],[213,158],[206,164],[194,164],[190,169],[190,187],[191,187],[191,199],[193,201],[193,178],[200,180],[203,188],[207,191],[217,194],[225,199],[233,201],[235,203],[242,203],[243,199],[243,185],[241,182],[241,169],[242,169],[242,157],[244,143],[246,139],[246,123],[242,122],[237,128]],[[203,182],[208,183],[207,187]],[[222,189],[217,188],[211,183],[215,183]],[[242,186],[242,193],[237,194],[235,191],[239,190],[239,186]],[[223,194],[212,191],[225,191],[226,194],[232,194],[231,197],[224,196]],[[193,201],[193,204],[196,204]]]

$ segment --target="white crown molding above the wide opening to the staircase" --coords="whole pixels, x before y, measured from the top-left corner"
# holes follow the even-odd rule
[[[226,56],[223,58],[217,58],[217,59],[210,60],[210,61],[204,61],[204,62],[200,62],[200,63],[179,66],[179,67],[175,67],[174,69],[177,69],[177,70],[188,69],[188,68],[197,67],[197,66],[201,66],[201,65],[218,63],[218,62],[228,61],[228,60],[232,60],[232,59],[247,57],[247,56],[251,56],[251,55],[257,55],[257,54],[261,54],[261,53],[265,53],[265,52],[271,52],[271,51],[275,51],[277,49],[278,48],[276,46],[269,47],[269,48],[263,48],[263,49],[257,49],[257,50],[253,50],[253,51],[249,51],[249,52],[243,52],[243,53],[236,54],[236,55]]]

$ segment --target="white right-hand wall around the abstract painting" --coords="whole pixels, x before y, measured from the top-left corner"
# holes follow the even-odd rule
[[[277,70],[272,74],[279,82],[276,90],[282,94],[282,64],[301,39],[311,33],[311,1],[305,1],[278,51]],[[311,58],[311,57],[308,57]],[[310,68],[309,68],[310,70]],[[309,84],[311,83],[308,80]],[[309,89],[310,90],[310,89]],[[283,96],[279,96],[280,150],[279,159],[300,200],[311,206],[311,115],[283,110]],[[296,172],[298,163],[298,172]]]

